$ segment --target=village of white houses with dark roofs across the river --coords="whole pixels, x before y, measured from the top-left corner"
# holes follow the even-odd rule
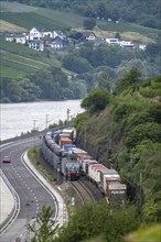
[[[84,31],[79,33],[82,42],[90,41],[94,46],[99,45],[119,45],[124,48],[142,50],[147,47],[146,43],[124,41],[117,37],[97,37],[93,31]],[[68,46],[79,47],[80,43],[76,43],[74,38],[68,37],[62,31],[44,31],[43,28],[32,28],[29,33],[8,33],[3,35],[6,41],[23,44],[32,50],[41,52],[64,51]]]

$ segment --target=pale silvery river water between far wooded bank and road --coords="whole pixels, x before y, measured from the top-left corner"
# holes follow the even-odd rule
[[[67,109],[69,113],[67,114]],[[33,129],[65,121],[83,112],[80,100],[0,105],[0,140],[20,136]]]

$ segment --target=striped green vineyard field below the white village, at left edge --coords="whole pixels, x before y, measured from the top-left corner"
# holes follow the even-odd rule
[[[60,66],[58,61],[15,43],[1,40],[1,77],[19,78],[47,66]]]

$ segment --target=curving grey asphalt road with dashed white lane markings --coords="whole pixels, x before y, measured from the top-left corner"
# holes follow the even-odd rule
[[[23,154],[37,143],[40,143],[39,138],[31,138],[1,147],[1,160],[4,155],[11,156],[10,164],[1,162],[1,169],[18,194],[18,200],[20,199],[18,215],[9,229],[1,234],[1,242],[13,242],[15,238],[21,238],[21,241],[29,239],[26,223],[41,212],[43,206],[51,206],[54,211],[53,217],[56,216],[56,198],[46,186],[40,183],[37,175],[34,176],[29,170],[23,162]]]

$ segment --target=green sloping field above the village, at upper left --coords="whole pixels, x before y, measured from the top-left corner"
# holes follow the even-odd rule
[[[63,11],[34,8],[20,3],[1,2],[1,19],[25,29],[43,26],[45,30],[65,30],[83,26],[84,18]]]

